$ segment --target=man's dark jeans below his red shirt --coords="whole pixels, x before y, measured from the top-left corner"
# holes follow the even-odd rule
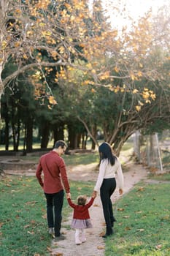
[[[63,208],[63,196],[63,190],[54,194],[45,193],[45,197],[47,200],[47,224],[48,227],[54,227],[55,236],[61,235],[60,230],[62,220],[61,211]]]

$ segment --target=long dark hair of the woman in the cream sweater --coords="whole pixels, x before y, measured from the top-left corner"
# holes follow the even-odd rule
[[[110,165],[115,165],[115,155],[112,152],[112,148],[109,145],[109,143],[104,142],[102,143],[98,148],[99,154],[100,154],[100,162],[102,159],[108,159],[110,162]]]

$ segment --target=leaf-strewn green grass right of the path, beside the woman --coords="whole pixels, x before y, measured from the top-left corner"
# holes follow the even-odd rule
[[[170,255],[169,184],[138,184],[118,202],[116,218],[106,256]]]

